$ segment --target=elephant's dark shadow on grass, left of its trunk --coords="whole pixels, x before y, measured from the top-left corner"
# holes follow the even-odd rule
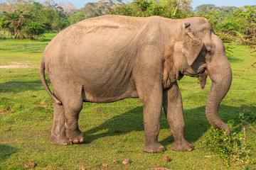
[[[143,108],[142,106],[139,106],[131,111],[114,116],[97,128],[92,128],[91,130],[84,132],[85,143],[90,143],[93,140],[105,136],[120,135],[132,131],[144,131],[142,112]],[[185,110],[184,117],[186,123],[186,140],[188,140],[188,142],[195,142],[208,130],[208,128],[210,128],[208,120],[206,120],[204,106]],[[164,115],[164,111],[161,115],[161,130],[162,129],[169,129],[169,124]],[[107,132],[99,133],[102,130],[107,130]],[[174,137],[170,133],[169,137],[166,137],[166,139],[159,142],[164,146],[170,145],[174,142]]]

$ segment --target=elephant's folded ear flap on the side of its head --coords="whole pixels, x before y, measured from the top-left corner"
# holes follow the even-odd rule
[[[183,54],[186,56],[188,65],[191,65],[196,60],[196,57],[198,57],[199,52],[201,52],[203,42],[200,38],[197,38],[195,36],[195,34],[190,28],[190,23],[184,23],[183,29],[185,31],[183,42]]]

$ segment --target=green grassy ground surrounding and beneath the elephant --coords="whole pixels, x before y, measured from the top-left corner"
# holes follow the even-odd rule
[[[242,163],[236,162],[225,166],[217,154],[201,145],[210,130],[205,115],[210,79],[203,90],[196,78],[184,77],[178,82],[183,96],[186,140],[198,146],[192,152],[171,149],[174,139],[163,114],[159,141],[167,150],[144,153],[142,101],[136,98],[107,104],[85,103],[79,120],[85,143],[65,147],[50,144],[52,99],[41,85],[38,64],[53,36],[46,34],[43,42],[0,40],[0,169],[24,169],[29,162],[36,164],[34,169],[244,169]],[[245,74],[240,71],[252,60],[248,48],[230,47],[235,47],[229,56],[233,84],[220,104],[220,118],[244,137],[244,125],[239,118],[255,121],[256,76],[251,70]],[[252,150],[248,167],[256,169],[256,132],[252,128],[245,132],[247,148]],[[171,162],[162,162],[164,156],[170,157]],[[130,159],[131,164],[123,165],[123,159]]]

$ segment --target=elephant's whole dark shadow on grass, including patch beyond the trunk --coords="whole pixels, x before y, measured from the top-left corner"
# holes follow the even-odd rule
[[[205,106],[201,106],[199,108],[184,110],[186,140],[188,140],[188,142],[196,142],[210,128],[210,124],[206,119],[205,109]],[[251,113],[256,112],[256,108],[253,106],[232,107],[221,105],[219,108],[220,119],[225,123],[229,123],[229,125],[231,124],[233,127],[236,126],[237,128],[233,129],[233,132],[240,132],[242,125],[237,125],[241,123],[239,113],[243,110],[250,111]],[[110,118],[96,128],[83,132],[85,135],[85,143],[90,143],[93,140],[105,136],[115,136],[132,131],[144,131],[142,111],[142,106],[139,106],[131,111]],[[167,123],[164,113],[161,115],[161,129],[169,129],[169,124]],[[100,133],[102,130],[107,130],[107,132]],[[174,138],[170,134],[169,137],[159,142],[164,146],[170,145],[174,142]]]

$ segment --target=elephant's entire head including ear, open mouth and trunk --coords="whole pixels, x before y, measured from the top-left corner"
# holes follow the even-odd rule
[[[213,27],[206,18],[187,18],[183,20],[181,27],[182,36],[174,47],[176,75],[198,77],[202,88],[209,75],[212,86],[206,103],[206,117],[210,125],[223,129],[230,135],[228,125],[218,116],[220,101],[228,93],[232,81],[225,46],[214,34]]]

